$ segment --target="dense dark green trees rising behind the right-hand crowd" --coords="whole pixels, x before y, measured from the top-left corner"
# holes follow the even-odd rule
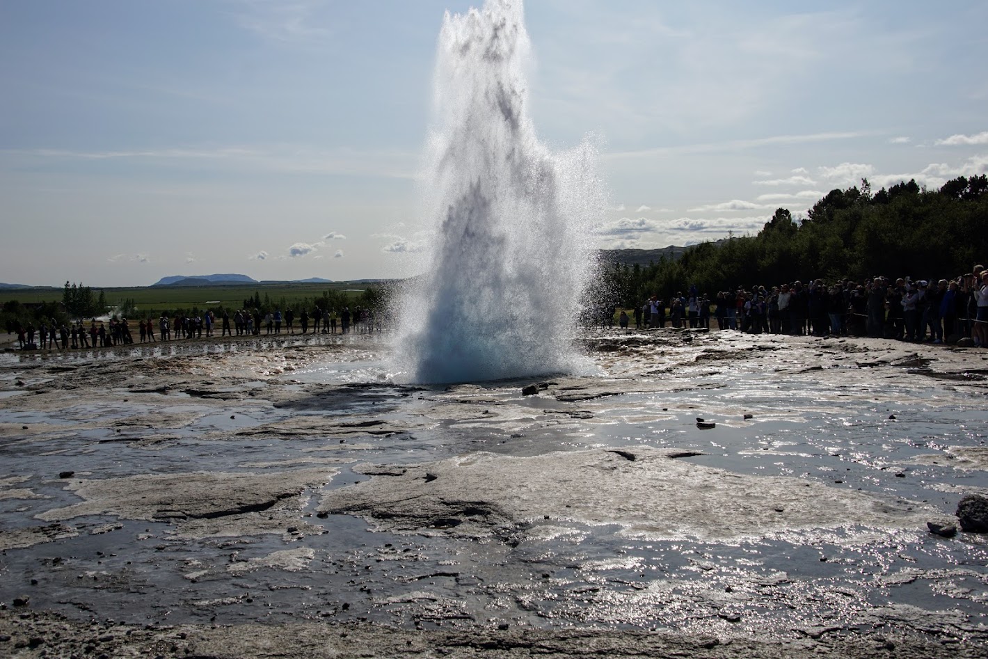
[[[940,190],[915,180],[871,192],[832,190],[805,217],[779,208],[756,235],[689,247],[648,266],[607,264],[599,290],[624,308],[696,286],[719,290],[875,276],[950,279],[988,261],[988,177],[958,177]]]

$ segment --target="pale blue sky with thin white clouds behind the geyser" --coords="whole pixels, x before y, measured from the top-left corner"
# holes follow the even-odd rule
[[[0,282],[408,274],[444,12],[0,1]],[[527,0],[530,112],[601,144],[602,248],[988,172],[988,3]]]

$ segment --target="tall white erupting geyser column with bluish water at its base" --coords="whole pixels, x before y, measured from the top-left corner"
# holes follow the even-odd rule
[[[396,359],[413,382],[571,372],[604,210],[596,150],[539,143],[521,0],[447,13],[423,165],[431,252],[397,295]]]

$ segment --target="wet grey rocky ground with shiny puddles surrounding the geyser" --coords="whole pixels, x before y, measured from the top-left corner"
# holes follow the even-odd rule
[[[988,353],[588,332],[0,357],[3,656],[984,656]],[[535,393],[523,388],[535,385]]]

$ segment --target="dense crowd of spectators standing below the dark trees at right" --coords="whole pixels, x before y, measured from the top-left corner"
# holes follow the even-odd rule
[[[697,288],[668,301],[652,296],[633,310],[636,328],[708,328],[710,316],[718,329],[754,334],[816,336],[869,336],[953,343],[970,338],[988,347],[988,271],[975,266],[971,273],[951,280],[894,281],[875,277],[858,283],[815,280],[766,288],[721,291],[711,299]],[[630,317],[620,312],[618,324]]]

